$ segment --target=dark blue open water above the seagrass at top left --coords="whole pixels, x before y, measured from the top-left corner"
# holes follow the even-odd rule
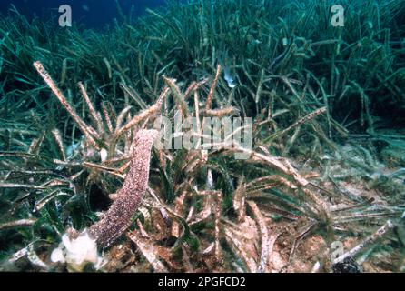
[[[123,13],[129,15],[133,5],[133,17],[143,15],[145,8],[165,5],[164,0],[118,0]],[[15,5],[17,10],[28,18],[34,15],[58,14],[60,5],[71,5],[73,21],[87,28],[100,28],[119,17],[115,0],[0,0],[0,13],[6,15]]]

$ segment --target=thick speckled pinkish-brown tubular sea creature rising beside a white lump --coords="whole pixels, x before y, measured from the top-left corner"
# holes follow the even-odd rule
[[[111,246],[131,224],[131,218],[142,202],[149,180],[149,166],[155,130],[140,130],[134,138],[132,166],[127,174],[118,198],[102,219],[91,226],[90,236],[101,247]]]

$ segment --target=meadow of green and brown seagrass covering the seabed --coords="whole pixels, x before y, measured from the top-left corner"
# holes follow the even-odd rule
[[[405,1],[334,4],[2,15],[0,270],[404,272]],[[176,115],[252,148],[152,146]]]

